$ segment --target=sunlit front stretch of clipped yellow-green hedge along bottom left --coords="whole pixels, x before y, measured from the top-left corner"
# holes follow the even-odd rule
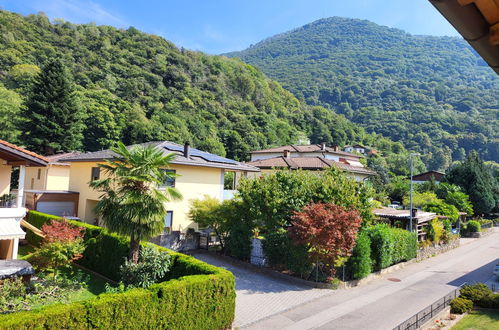
[[[233,321],[234,278],[192,275],[149,289],[101,294],[0,316],[2,329],[224,329]]]

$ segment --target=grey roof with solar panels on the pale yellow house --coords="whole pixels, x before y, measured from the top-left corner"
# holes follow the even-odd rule
[[[190,165],[190,166],[203,166],[203,167],[214,167],[214,168],[223,168],[227,170],[235,170],[235,171],[248,171],[248,172],[259,172],[260,170],[254,166],[247,165],[244,163],[240,163],[233,159],[221,157],[215,154],[211,154],[209,152],[201,151],[196,148],[189,148],[190,155],[188,158],[184,157],[183,150],[184,146],[173,143],[170,141],[153,141],[146,142],[141,144],[135,144],[131,146],[127,146],[127,148],[131,149],[135,146],[155,146],[156,148],[163,151],[163,153],[170,154],[175,153],[176,157],[171,162],[172,164],[178,165]],[[60,159],[63,162],[85,162],[85,161],[102,161],[105,159],[113,159],[116,158],[116,153],[111,150],[101,150],[95,152],[87,152],[75,154],[69,157],[65,157]]]

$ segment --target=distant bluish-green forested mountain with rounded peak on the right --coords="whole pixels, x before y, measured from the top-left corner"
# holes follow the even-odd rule
[[[333,17],[226,55],[308,104],[402,141],[430,168],[472,149],[499,162],[499,77],[460,38]]]

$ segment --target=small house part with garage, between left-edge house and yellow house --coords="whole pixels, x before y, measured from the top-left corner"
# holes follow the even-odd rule
[[[24,194],[26,207],[43,213],[75,217],[78,213],[78,192],[69,191],[70,164],[61,161],[78,153],[46,156],[46,167],[26,168]]]

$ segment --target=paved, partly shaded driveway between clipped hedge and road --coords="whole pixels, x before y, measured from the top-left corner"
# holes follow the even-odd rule
[[[314,299],[333,294],[327,289],[315,289],[286,280],[281,276],[269,276],[257,267],[245,265],[211,253],[195,253],[194,257],[209,264],[230,270],[236,277],[235,328],[248,326],[271,315],[284,312]]]

